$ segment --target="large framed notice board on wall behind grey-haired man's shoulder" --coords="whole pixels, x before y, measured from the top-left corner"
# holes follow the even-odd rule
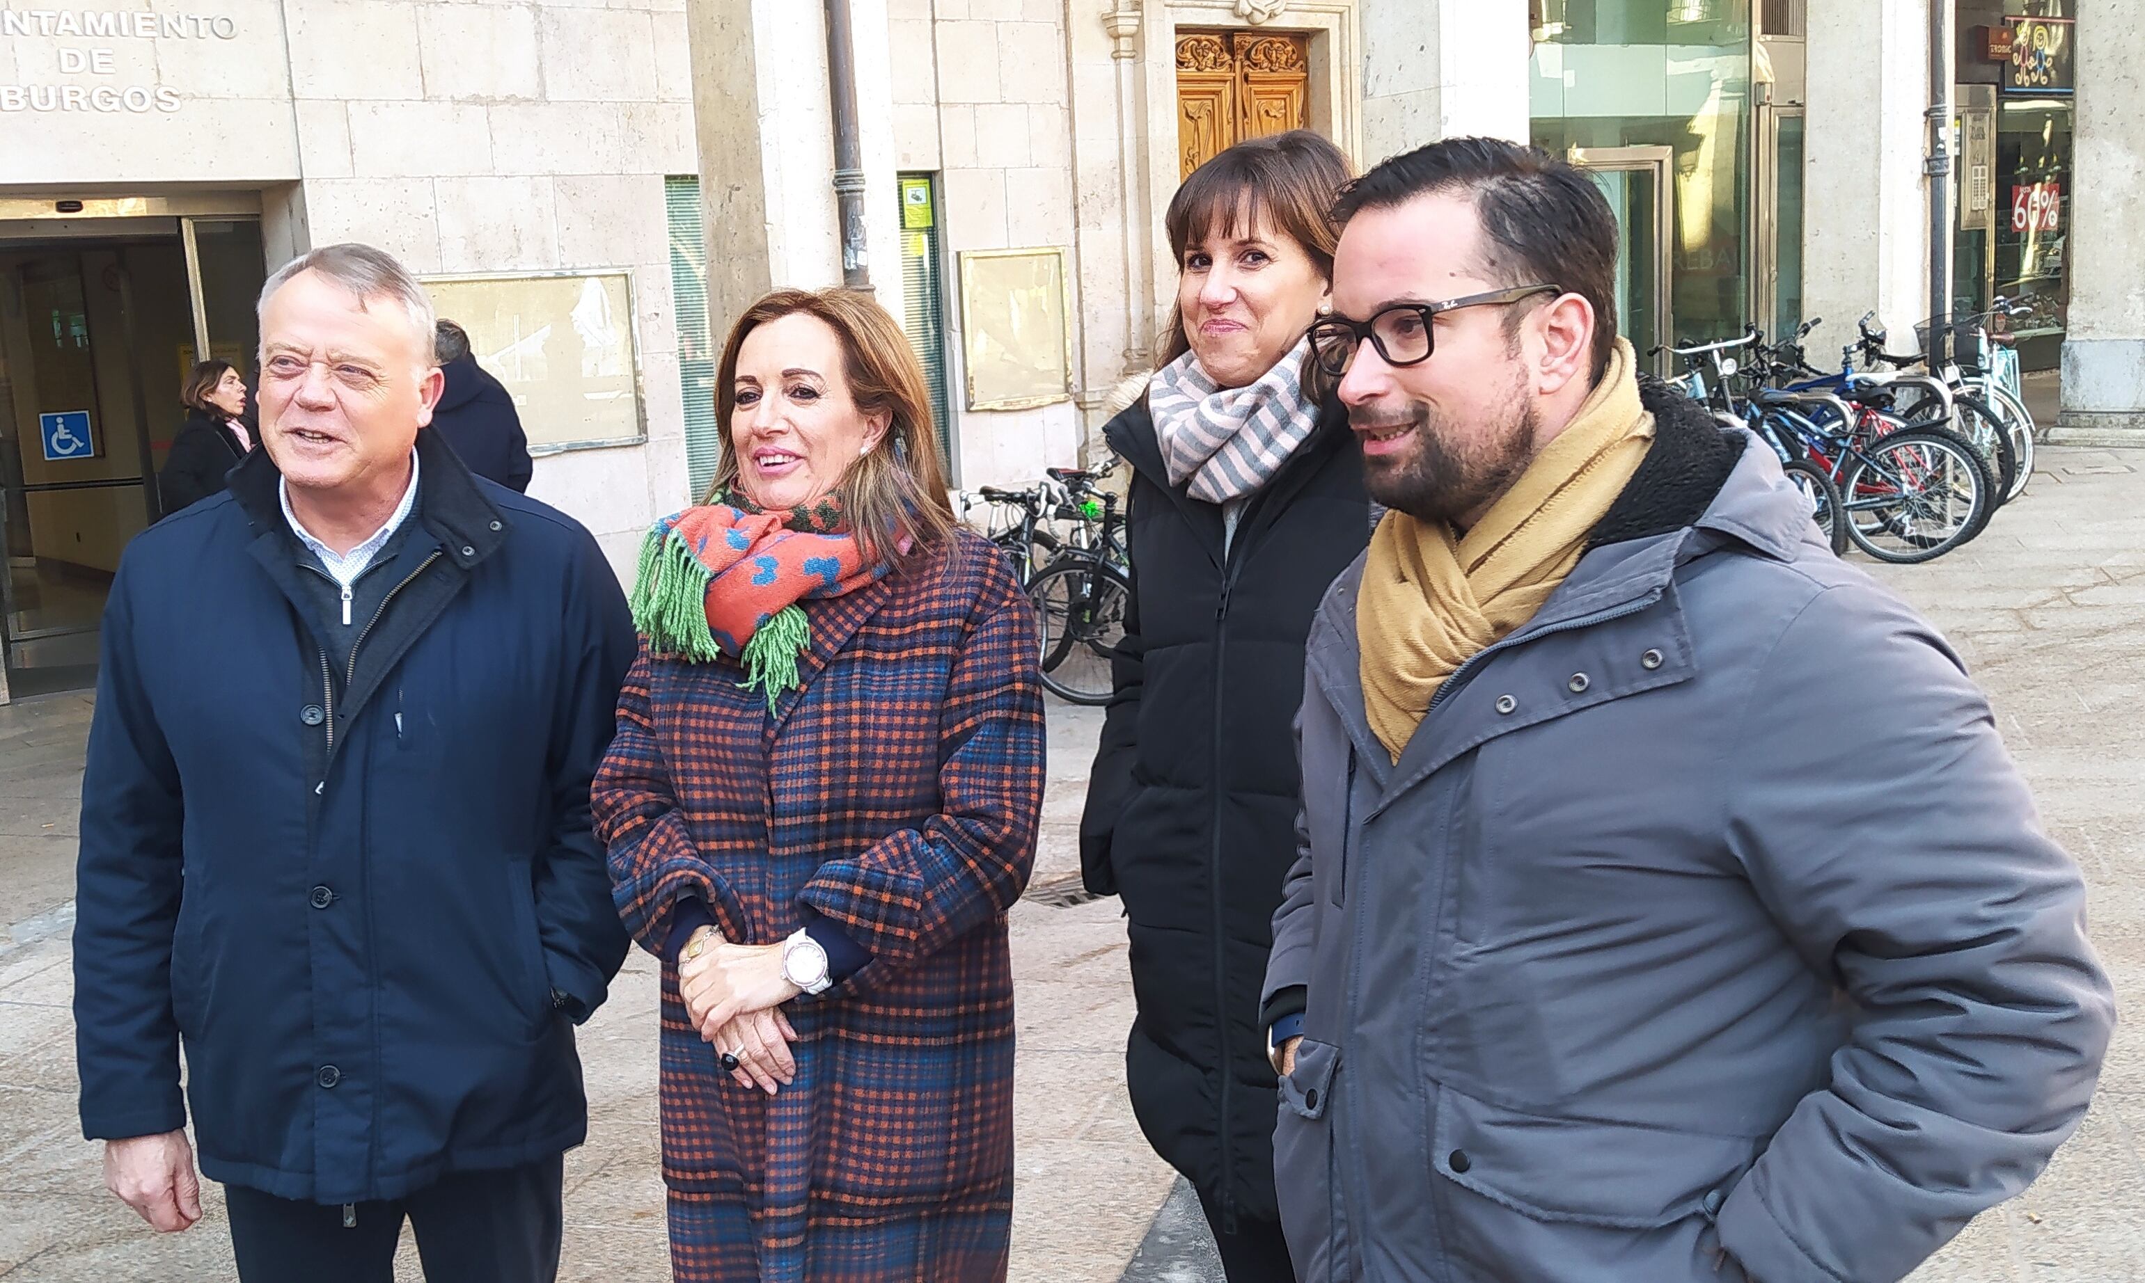
[[[515,398],[530,454],[648,439],[631,272],[425,276],[425,289]]]

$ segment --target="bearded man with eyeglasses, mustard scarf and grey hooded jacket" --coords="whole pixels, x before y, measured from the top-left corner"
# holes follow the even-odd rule
[[[1617,227],[1448,139],[1313,328],[1390,512],[1308,643],[1263,1022],[1306,1283],[1873,1283],[2076,1127],[2113,994],[1943,638],[1615,336]]]

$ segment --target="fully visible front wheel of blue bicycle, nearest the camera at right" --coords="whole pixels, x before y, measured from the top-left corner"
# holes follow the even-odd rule
[[[1941,428],[1888,433],[1840,476],[1847,538],[1879,561],[1933,561],[1982,533],[1995,480],[1982,456]]]

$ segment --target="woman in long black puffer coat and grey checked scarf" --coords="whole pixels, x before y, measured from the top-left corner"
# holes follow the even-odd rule
[[[1105,428],[1135,473],[1133,602],[1081,867],[1130,919],[1133,1112],[1199,1189],[1231,1283],[1293,1279],[1259,985],[1296,855],[1304,638],[1371,535],[1347,413],[1302,386],[1343,182],[1341,152],[1302,131],[1184,182],[1167,214],[1169,349]]]

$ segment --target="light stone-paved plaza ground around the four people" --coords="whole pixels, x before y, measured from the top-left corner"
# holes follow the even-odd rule
[[[2124,1013],[2134,1015],[2145,1011],[2145,450],[2044,450],[2040,469],[1978,542],[1933,565],[1877,574],[1928,613],[1995,698],[2048,829],[2085,870],[2094,940]],[[0,709],[0,1279],[232,1279],[212,1191],[202,1225],[157,1238],[103,1193],[99,1148],[75,1124],[69,930],[88,713],[88,696]],[[1075,878],[1096,724],[1092,711],[1051,709],[1047,833],[1036,887],[1012,915],[1012,1279],[1199,1283],[1218,1274],[1201,1253],[1197,1210],[1169,1197],[1171,1174],[1141,1142],[1124,1095],[1130,987],[1118,904],[1053,904]],[[1840,752],[1853,752],[1845,733]],[[650,960],[635,953],[581,1035],[592,1127],[590,1144],[566,1161],[564,1279],[669,1277],[654,990]],[[405,1279],[418,1277],[414,1266],[405,1242]],[[2145,1032],[2132,1022],[2117,1028],[2091,1116],[2046,1176],[1913,1279],[2141,1277]]]

